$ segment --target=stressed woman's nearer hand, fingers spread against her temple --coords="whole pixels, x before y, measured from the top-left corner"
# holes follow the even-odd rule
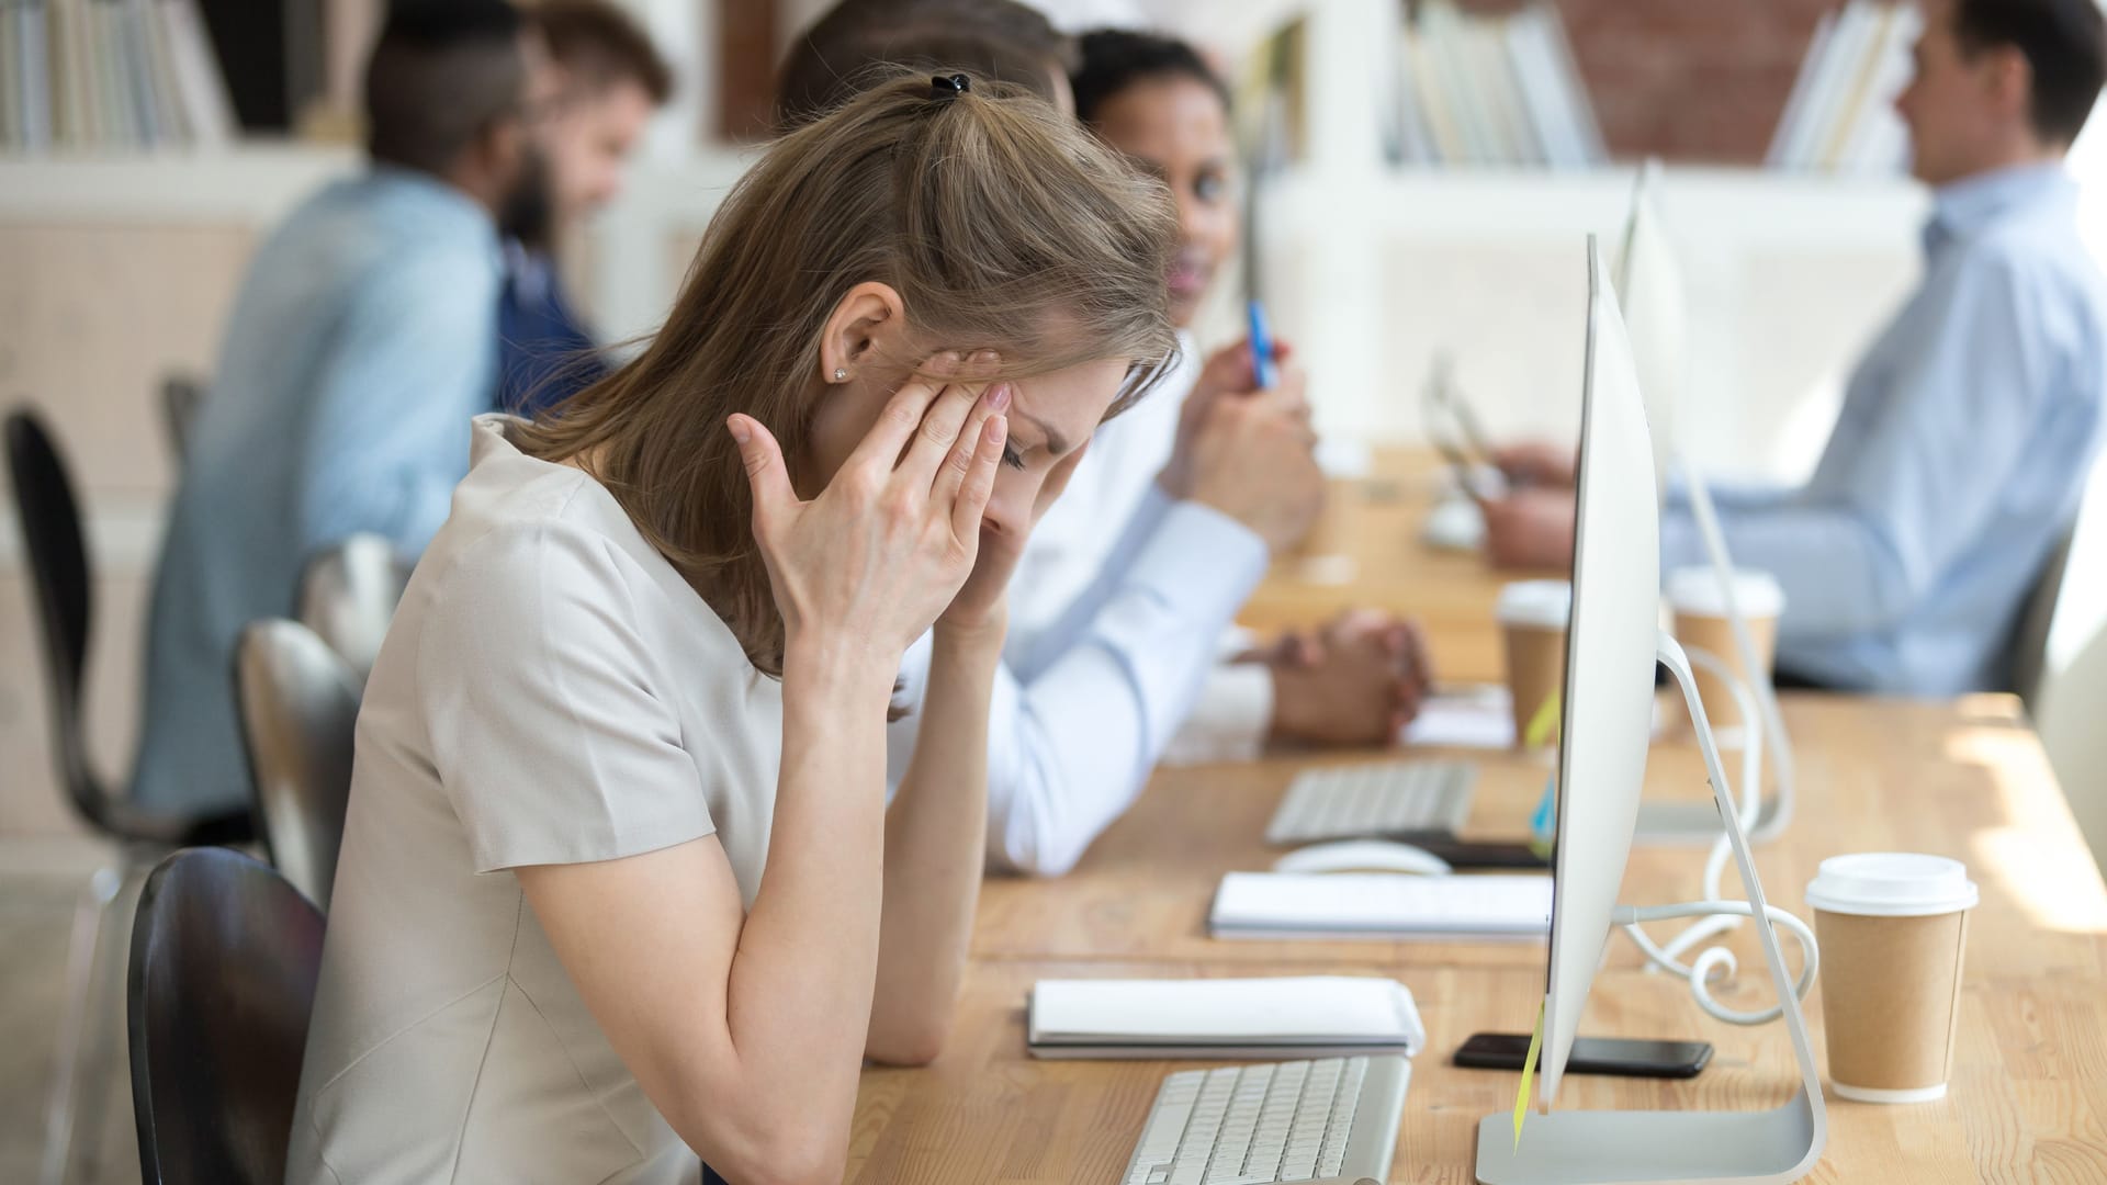
[[[929,369],[957,375],[961,365],[946,356]],[[792,489],[782,445],[759,420],[727,420],[788,647],[866,652],[891,677],[973,571],[1007,409],[1007,384],[914,375],[811,502]]]

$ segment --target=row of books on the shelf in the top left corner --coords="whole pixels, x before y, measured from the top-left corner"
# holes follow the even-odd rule
[[[221,145],[234,133],[196,0],[0,0],[0,152]]]

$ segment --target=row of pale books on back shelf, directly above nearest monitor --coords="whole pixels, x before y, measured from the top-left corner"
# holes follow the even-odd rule
[[[1397,57],[1403,164],[1589,169],[1608,160],[1566,25],[1547,0],[1509,17],[1469,17],[1424,0]]]

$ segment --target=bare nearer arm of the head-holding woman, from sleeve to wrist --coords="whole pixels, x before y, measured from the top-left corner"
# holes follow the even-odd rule
[[[879,947],[883,668],[784,662],[769,862],[742,917],[716,837],[518,869],[615,1054],[731,1181],[839,1181]]]

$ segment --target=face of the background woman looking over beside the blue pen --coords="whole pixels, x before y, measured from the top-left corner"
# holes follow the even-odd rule
[[[1237,249],[1235,158],[1228,112],[1197,78],[1144,78],[1098,103],[1098,135],[1140,160],[1178,198],[1171,320],[1193,323],[1216,270]]]

